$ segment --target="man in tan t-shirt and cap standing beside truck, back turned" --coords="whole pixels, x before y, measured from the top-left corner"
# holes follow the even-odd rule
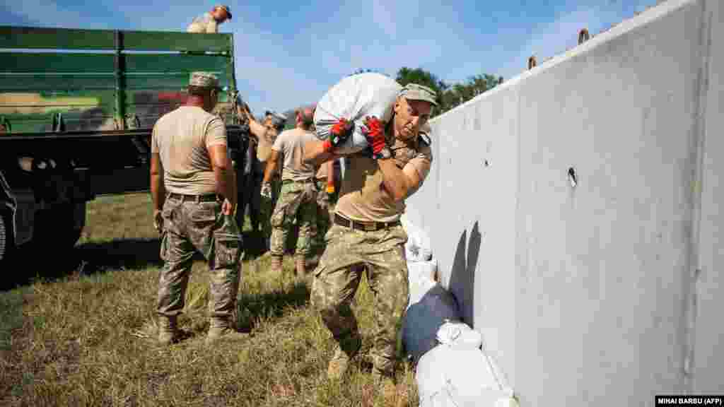
[[[233,217],[236,180],[227,155],[227,133],[214,110],[219,80],[193,72],[184,105],[164,114],[151,136],[153,223],[161,232],[159,342],[177,340],[177,316],[184,297],[194,251],[209,264],[211,343],[237,335],[233,326],[239,288],[242,241]]]

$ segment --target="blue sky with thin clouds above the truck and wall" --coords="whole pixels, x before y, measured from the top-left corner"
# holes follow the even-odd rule
[[[656,0],[237,1],[237,85],[251,108],[284,111],[317,101],[345,75],[422,67],[448,83],[505,79],[633,17]],[[294,4],[294,5],[292,5]],[[183,31],[214,1],[0,0],[0,25]]]

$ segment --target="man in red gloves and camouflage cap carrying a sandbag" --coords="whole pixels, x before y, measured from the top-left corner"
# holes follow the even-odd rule
[[[375,295],[373,374],[387,397],[397,395],[396,339],[408,303],[407,235],[400,215],[405,198],[421,187],[430,170],[432,150],[420,130],[433,106],[437,106],[434,91],[411,84],[390,106],[389,122],[376,117],[365,120],[363,131],[370,151],[346,157],[349,166],[342,176],[334,225],[325,237],[327,248],[314,272],[311,290],[311,302],[337,342],[327,375],[338,379],[361,345],[350,301],[366,271]],[[306,158],[318,164],[336,159],[334,147],[324,143],[308,143]]]

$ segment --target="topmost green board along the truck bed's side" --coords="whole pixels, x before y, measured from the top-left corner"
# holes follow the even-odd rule
[[[0,26],[0,49],[116,49],[114,30]],[[232,53],[231,34],[122,31],[123,49]]]

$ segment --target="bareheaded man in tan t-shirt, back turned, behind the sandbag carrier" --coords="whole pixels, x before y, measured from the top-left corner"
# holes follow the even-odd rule
[[[296,127],[280,134],[271,147],[271,156],[266,165],[262,196],[269,198],[271,185],[269,179],[276,172],[279,157],[282,157],[282,188],[279,193],[274,214],[271,215],[271,272],[282,271],[287,235],[292,230],[294,219],[298,220],[299,235],[297,239],[296,274],[306,273],[306,259],[311,253],[313,224],[316,222],[316,185],[314,183],[314,166],[303,161],[304,144],[314,140],[309,131],[312,121],[311,107],[298,109]]]

